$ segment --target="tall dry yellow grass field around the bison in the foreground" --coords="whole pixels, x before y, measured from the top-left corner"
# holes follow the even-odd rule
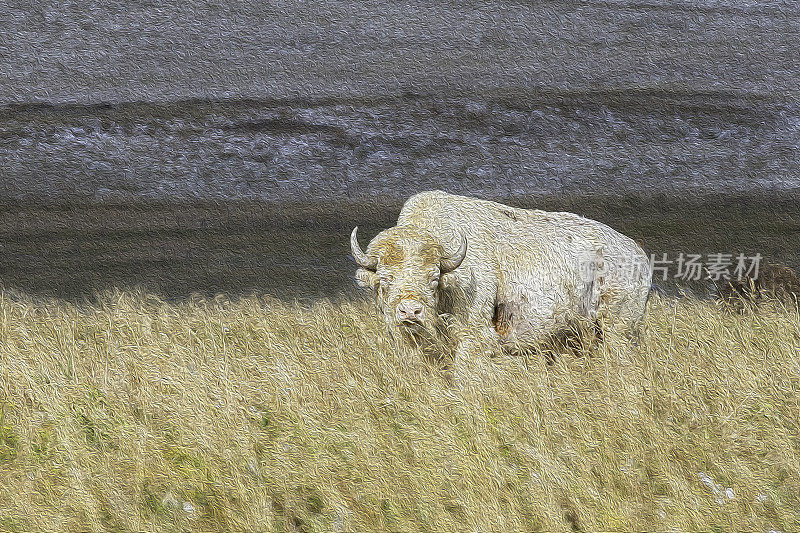
[[[800,531],[800,316],[448,384],[371,305],[0,298],[2,531]]]

